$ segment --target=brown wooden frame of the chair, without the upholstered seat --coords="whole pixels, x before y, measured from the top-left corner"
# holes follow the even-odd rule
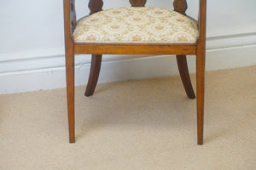
[[[76,43],[73,40],[73,30],[76,26],[74,1],[75,0],[63,0],[69,142],[75,142],[74,54],[92,54],[90,78],[85,92],[86,96],[92,95],[96,88],[97,79],[101,69],[102,54],[176,54],[177,65],[183,81],[183,86],[188,97],[190,99],[195,99],[186,60],[186,55],[189,54],[196,55],[197,143],[203,144],[207,0],[199,0],[200,11],[198,21],[196,21],[199,28],[199,38],[195,44]],[[146,0],[130,0],[130,3],[132,7],[143,7]],[[101,11],[102,6],[102,0],[90,0],[90,14]],[[186,15],[186,0],[174,0],[173,6],[175,11]]]

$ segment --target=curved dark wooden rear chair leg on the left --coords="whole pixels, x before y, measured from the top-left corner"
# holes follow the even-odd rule
[[[102,54],[92,54],[90,63],[90,77],[85,90],[85,96],[93,95],[102,66]]]

